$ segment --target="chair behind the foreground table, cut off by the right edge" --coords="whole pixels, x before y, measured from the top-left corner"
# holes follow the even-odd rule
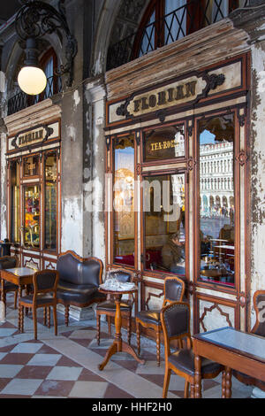
[[[254,327],[250,331],[251,334],[260,335],[265,337],[265,290],[257,290],[253,297],[254,311],[256,314],[256,321]],[[239,381],[246,385],[252,385],[263,391],[265,391],[265,382],[255,379],[250,375],[240,373],[239,371],[233,370],[232,374]]]

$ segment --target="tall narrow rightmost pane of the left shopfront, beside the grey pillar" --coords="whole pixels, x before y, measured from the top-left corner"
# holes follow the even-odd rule
[[[57,249],[57,156],[45,158],[45,236],[44,247],[48,250]]]

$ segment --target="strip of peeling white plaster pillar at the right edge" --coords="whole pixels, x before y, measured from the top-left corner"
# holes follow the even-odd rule
[[[265,289],[265,42],[252,46],[251,299]],[[251,326],[255,315],[252,308]]]

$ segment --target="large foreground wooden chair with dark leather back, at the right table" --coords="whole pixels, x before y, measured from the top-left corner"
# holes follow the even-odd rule
[[[191,385],[191,397],[194,397],[194,355],[192,351],[192,338],[190,333],[190,306],[185,302],[174,302],[165,306],[161,312],[161,322],[164,337],[165,374],[163,381],[163,398],[167,397],[171,371],[184,377],[184,397],[189,397],[189,385]],[[187,348],[170,352],[172,340],[182,341],[186,338]],[[208,358],[201,358],[201,378],[213,379],[221,371],[223,366],[210,361]],[[223,371],[224,377],[224,371]]]

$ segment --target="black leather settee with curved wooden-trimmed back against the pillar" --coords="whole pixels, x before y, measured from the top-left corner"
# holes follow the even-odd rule
[[[60,279],[57,302],[65,306],[65,324],[69,323],[69,307],[102,302],[105,296],[98,291],[102,283],[102,261],[99,258],[80,258],[72,250],[60,254],[57,260]]]

